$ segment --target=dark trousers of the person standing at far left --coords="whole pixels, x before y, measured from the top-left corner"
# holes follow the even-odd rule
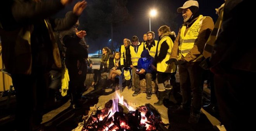
[[[31,75],[12,74],[16,91],[16,129],[31,131],[42,122],[48,87],[48,73],[32,71]]]

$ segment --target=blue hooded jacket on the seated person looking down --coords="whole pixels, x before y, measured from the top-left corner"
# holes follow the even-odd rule
[[[153,66],[156,67],[156,60],[154,57],[149,55],[148,50],[143,50],[140,57],[147,57],[147,60],[144,61],[142,58],[138,59],[138,69],[145,69],[146,73],[155,73],[156,70],[153,68]],[[153,65],[153,66],[152,66]]]

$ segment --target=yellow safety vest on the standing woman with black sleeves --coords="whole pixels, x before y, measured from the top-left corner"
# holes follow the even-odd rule
[[[174,62],[172,64],[166,64],[165,62],[167,60],[170,59],[171,56],[171,49],[173,48],[173,41],[171,40],[170,37],[168,36],[164,36],[158,43],[158,48],[157,48],[157,56],[160,53],[160,49],[161,49],[161,44],[166,41],[166,43],[169,46],[169,49],[167,50],[167,54],[166,57],[164,58],[164,60],[162,60],[161,62],[158,62],[156,65],[156,69],[159,72],[167,72],[167,73],[172,73],[176,71],[176,65],[174,64]]]

